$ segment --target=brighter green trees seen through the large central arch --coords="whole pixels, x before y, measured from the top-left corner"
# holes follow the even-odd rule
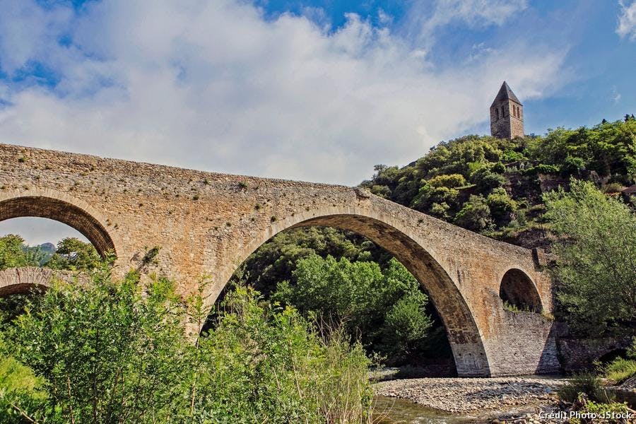
[[[348,334],[392,360],[425,341],[432,319],[428,297],[395,259],[382,270],[375,262],[312,255],[300,259],[295,284],[279,283],[273,302],[294,305],[310,317],[343,322]]]

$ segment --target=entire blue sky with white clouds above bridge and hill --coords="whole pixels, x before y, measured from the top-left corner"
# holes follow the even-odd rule
[[[526,133],[620,119],[635,69],[635,0],[0,0],[0,142],[353,185],[503,80]]]

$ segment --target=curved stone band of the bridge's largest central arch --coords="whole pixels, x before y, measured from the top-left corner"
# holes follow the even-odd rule
[[[264,242],[283,230],[307,226],[351,230],[373,240],[393,254],[428,291],[446,328],[458,375],[491,375],[488,355],[473,314],[457,284],[435,259],[435,252],[425,246],[422,240],[418,240],[418,237],[407,235],[408,230],[402,228],[399,220],[386,213],[370,212],[367,208],[321,208],[319,211],[293,214],[285,220],[273,222],[266,231],[241,249],[232,264],[225,266],[217,274],[220,275],[220,281],[216,284],[214,293],[208,297],[208,302],[213,302],[218,297],[237,267]]]

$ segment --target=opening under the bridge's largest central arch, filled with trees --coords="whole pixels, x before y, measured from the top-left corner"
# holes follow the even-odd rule
[[[345,331],[384,365],[408,367],[408,377],[457,375],[430,294],[389,252],[356,232],[323,226],[278,232],[239,266],[217,307],[243,284],[269,305],[292,306],[321,328]]]

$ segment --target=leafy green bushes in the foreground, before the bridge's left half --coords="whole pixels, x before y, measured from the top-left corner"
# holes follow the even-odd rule
[[[0,333],[4,416],[16,423],[20,410],[42,423],[370,419],[369,360],[360,345],[337,330],[321,336],[293,308],[263,305],[249,288],[229,293],[214,328],[192,343],[183,324],[199,319],[197,299],[184,308],[165,278],[142,285],[130,273],[115,282],[107,266],[92,284],[55,283]]]

